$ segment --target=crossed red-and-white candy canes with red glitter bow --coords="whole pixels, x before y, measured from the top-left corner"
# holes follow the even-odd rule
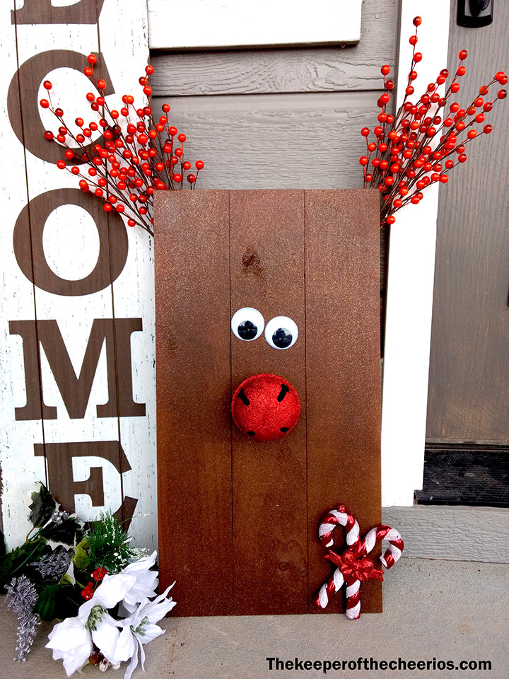
[[[340,505],[337,509],[332,509],[322,518],[318,535],[324,547],[332,547],[334,538],[332,532],[336,526],[343,526],[346,533],[346,544],[349,547],[342,555],[336,554],[329,549],[326,559],[337,565],[337,569],[332,576],[322,585],[317,594],[315,602],[320,608],[325,608],[329,603],[329,596],[339,591],[346,582],[346,615],[355,620],[361,615],[361,581],[370,578],[383,580],[383,571],[376,569],[372,559],[366,555],[373,550],[373,547],[388,540],[389,548],[380,557],[380,563],[389,569],[392,567],[403,551],[403,540],[397,530],[390,526],[377,526],[366,533],[361,538],[359,525],[356,518],[352,516],[346,507]]]

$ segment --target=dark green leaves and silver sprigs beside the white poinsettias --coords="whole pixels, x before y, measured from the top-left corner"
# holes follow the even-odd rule
[[[78,521],[40,484],[31,495],[29,519],[33,529],[23,545],[2,553],[0,545],[0,593],[18,617],[18,660],[24,660],[41,620],[52,622],[74,617],[97,582],[92,571],[102,567],[116,574],[140,552],[129,547],[127,531],[111,513],[103,513],[90,525]],[[4,544],[3,535],[1,542]]]

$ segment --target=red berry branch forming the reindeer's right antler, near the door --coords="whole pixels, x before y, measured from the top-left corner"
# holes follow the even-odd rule
[[[459,79],[467,72],[463,64],[467,50],[461,50],[460,64],[445,94],[437,91],[449,76],[449,71],[442,69],[435,82],[413,103],[410,97],[414,95],[413,83],[417,78],[415,67],[423,58],[421,52],[416,52],[417,28],[421,23],[421,17],[416,16],[416,30],[409,39],[414,50],[401,107],[395,116],[387,113],[394,82],[387,79],[390,67],[382,66],[385,91],[378,100],[381,111],[379,124],[373,129],[375,141],[368,141],[371,133],[368,127],[361,129],[367,155],[361,156],[359,163],[363,166],[364,187],[378,187],[380,191],[380,226],[394,224],[394,214],[404,205],[418,204],[427,186],[447,183],[451,170],[467,161],[467,145],[482,134],[491,134],[491,125],[484,124],[486,114],[507,96],[505,89],[490,95],[491,86],[503,86],[508,81],[508,76],[498,71],[487,85],[479,88],[479,96],[467,108],[451,101],[452,95],[460,91]]]

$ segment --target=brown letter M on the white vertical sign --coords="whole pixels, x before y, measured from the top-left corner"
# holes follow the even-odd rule
[[[95,318],[79,375],[69,358],[56,320],[13,320],[11,335],[23,339],[27,402],[16,408],[16,419],[57,419],[57,408],[45,405],[40,371],[40,348],[57,383],[71,419],[85,417],[99,356],[106,343],[107,403],[98,405],[98,417],[142,417],[145,404],[132,397],[131,334],[142,330],[141,318]]]

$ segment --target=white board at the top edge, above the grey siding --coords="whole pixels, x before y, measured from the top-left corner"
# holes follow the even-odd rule
[[[358,42],[361,0],[149,0],[151,49]]]

